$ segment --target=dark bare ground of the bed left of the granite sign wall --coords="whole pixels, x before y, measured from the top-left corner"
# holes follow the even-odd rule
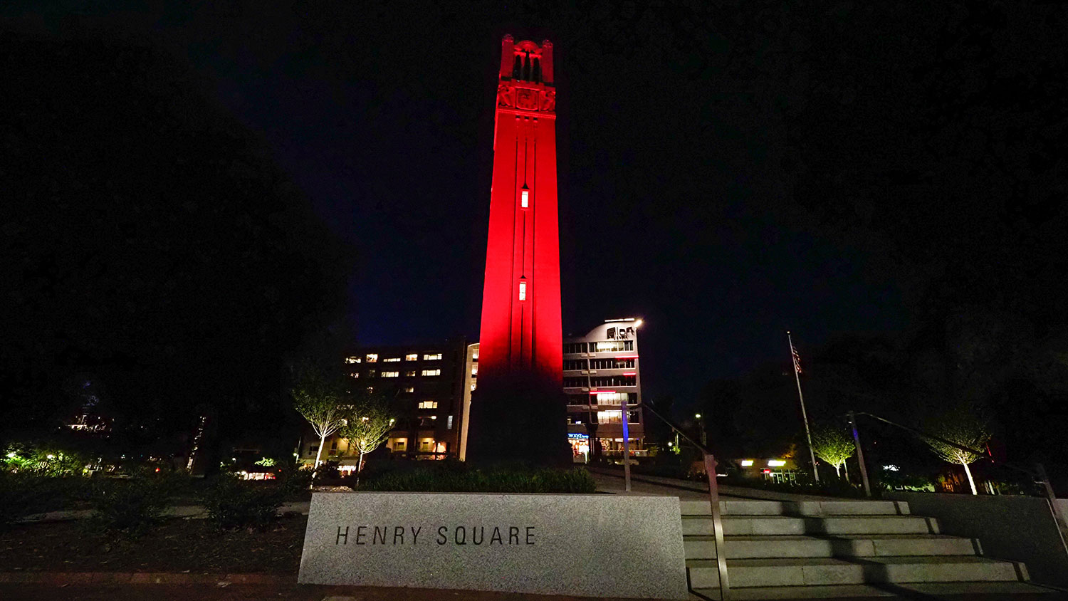
[[[307,516],[262,532],[220,533],[206,520],[168,520],[141,538],[89,532],[81,521],[0,532],[3,571],[270,572],[296,580]]]

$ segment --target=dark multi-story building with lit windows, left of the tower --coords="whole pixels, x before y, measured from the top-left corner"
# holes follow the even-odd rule
[[[346,353],[345,371],[352,385],[384,391],[393,398],[396,423],[386,441],[390,453],[414,459],[458,455],[468,371],[465,338],[438,344],[361,347]],[[319,441],[305,436],[301,459],[314,462]],[[343,470],[356,465],[358,455],[334,434],[326,441],[323,459],[339,461]]]

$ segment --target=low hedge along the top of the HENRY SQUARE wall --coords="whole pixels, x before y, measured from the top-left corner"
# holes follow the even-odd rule
[[[361,490],[395,492],[596,492],[585,470],[457,470],[418,468],[367,479]]]

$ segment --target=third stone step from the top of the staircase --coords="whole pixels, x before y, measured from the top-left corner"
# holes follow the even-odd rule
[[[876,557],[906,555],[973,555],[978,545],[970,538],[946,535],[728,536],[731,559],[770,557]],[[714,559],[716,537],[682,537],[687,559]]]

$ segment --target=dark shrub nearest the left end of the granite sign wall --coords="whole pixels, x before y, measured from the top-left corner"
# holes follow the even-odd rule
[[[286,497],[308,486],[310,473],[280,474],[276,483],[218,476],[200,495],[208,520],[219,529],[262,528],[274,520]]]

